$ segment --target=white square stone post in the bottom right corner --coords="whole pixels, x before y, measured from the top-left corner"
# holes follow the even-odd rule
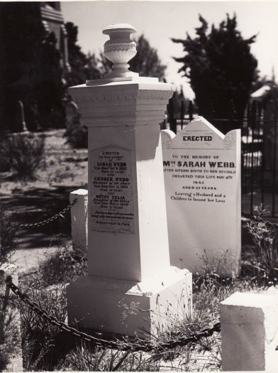
[[[223,371],[276,371],[278,296],[235,293],[220,312]]]

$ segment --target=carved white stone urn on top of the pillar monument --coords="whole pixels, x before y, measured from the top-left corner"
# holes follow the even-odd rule
[[[110,38],[104,44],[104,55],[113,63],[113,71],[105,77],[138,76],[137,72],[128,70],[128,61],[137,53],[135,41],[130,40],[130,34],[136,31],[136,28],[128,23],[110,25],[102,31]]]

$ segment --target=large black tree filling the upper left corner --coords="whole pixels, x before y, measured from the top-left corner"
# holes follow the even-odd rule
[[[21,131],[19,99],[28,129],[34,127],[34,105],[43,126],[62,126],[65,87],[56,43],[54,33],[43,27],[40,2],[0,4],[0,124],[6,129]]]

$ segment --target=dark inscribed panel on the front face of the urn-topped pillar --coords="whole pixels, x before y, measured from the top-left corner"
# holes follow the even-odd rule
[[[109,146],[91,151],[91,229],[134,232],[132,154]]]

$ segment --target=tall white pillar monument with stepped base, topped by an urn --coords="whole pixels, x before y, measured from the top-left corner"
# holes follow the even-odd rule
[[[169,264],[160,141],[176,87],[128,70],[135,28],[103,32],[113,72],[69,90],[89,129],[89,276],[67,288],[68,320],[144,337],[191,311],[191,274]]]

